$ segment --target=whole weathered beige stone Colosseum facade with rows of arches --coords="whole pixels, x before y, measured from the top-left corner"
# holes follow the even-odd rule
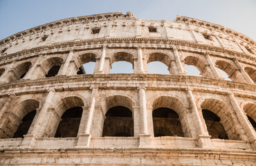
[[[235,30],[111,12],[24,30],[0,51],[0,165],[256,165],[256,43]],[[115,62],[134,72],[110,73]]]

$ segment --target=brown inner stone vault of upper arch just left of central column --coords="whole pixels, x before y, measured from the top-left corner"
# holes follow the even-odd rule
[[[109,59],[110,68],[112,68],[113,63],[120,61],[131,63],[132,69],[134,70],[134,55],[132,55],[131,53],[127,53],[124,51],[113,53],[113,55],[111,55]]]

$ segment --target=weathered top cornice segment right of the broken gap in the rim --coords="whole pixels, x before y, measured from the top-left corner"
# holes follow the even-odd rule
[[[217,30],[221,33],[226,33],[226,34],[231,35],[231,36],[239,37],[239,39],[241,39],[241,40],[245,39],[246,42],[256,45],[255,41],[253,39],[250,39],[250,37],[247,37],[246,35],[244,35],[242,33],[238,33],[237,31],[232,30],[230,28],[226,28],[226,27],[220,26],[218,24],[212,24],[208,21],[203,21],[203,20],[200,20],[200,19],[194,19],[194,18],[191,18],[191,17],[185,17],[185,16],[177,15],[174,22],[183,23],[183,24],[184,23],[185,24],[193,24],[193,25],[196,25],[196,26],[203,26],[203,28],[208,28],[209,30]]]

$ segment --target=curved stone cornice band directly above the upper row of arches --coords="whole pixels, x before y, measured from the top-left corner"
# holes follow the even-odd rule
[[[84,49],[96,49],[102,48],[102,44],[108,44],[108,48],[136,48],[138,44],[143,48],[154,48],[154,49],[172,49],[173,45],[177,46],[179,50],[184,51],[193,51],[193,49],[203,49],[203,50],[212,50],[217,53],[224,53],[232,55],[233,57],[241,57],[249,59],[253,62],[256,61],[256,57],[248,55],[245,53],[239,53],[234,50],[227,50],[225,48],[220,48],[217,46],[210,46],[205,44],[197,44],[194,42],[186,42],[182,40],[174,39],[154,39],[154,38],[99,38],[99,39],[85,39],[79,42],[63,42],[57,44],[51,44],[48,46],[39,46],[35,48],[30,48],[27,50],[21,50],[17,53],[12,53],[9,55],[2,55],[0,61],[3,62],[4,59],[12,59],[19,57],[21,59],[23,55],[35,55],[38,53],[50,54],[55,52],[63,52],[73,48],[74,50],[84,50]],[[190,49],[192,48],[192,50]],[[211,52],[210,52],[211,55]],[[212,54],[214,55],[214,54]]]

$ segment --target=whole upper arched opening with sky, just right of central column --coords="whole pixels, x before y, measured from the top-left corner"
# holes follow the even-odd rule
[[[172,59],[163,53],[152,53],[147,59],[147,72],[152,74],[170,74],[172,71]]]

